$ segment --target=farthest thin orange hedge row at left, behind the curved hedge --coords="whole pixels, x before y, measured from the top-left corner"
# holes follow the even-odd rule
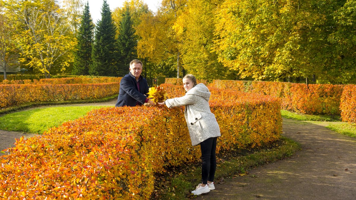
[[[40,80],[3,80],[0,84],[90,84],[90,83],[114,83],[120,82],[121,77],[101,77],[101,78],[51,78]]]

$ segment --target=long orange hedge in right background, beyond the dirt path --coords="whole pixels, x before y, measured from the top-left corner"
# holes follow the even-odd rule
[[[283,83],[271,81],[214,80],[221,89],[271,95],[281,99],[282,109],[304,114],[339,115],[344,85]]]

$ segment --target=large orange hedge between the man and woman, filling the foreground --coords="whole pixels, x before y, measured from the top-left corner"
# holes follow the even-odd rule
[[[168,86],[167,91],[182,86]],[[173,88],[173,89],[170,89]],[[218,151],[271,142],[282,132],[277,99],[211,88]],[[154,172],[193,162],[183,108],[109,107],[19,140],[2,156],[2,198],[149,199]]]

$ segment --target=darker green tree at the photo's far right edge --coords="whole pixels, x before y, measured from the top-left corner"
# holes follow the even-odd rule
[[[330,33],[330,43],[321,78],[338,84],[356,83],[356,1],[339,2],[337,9],[329,11],[329,21],[329,27],[322,27]]]

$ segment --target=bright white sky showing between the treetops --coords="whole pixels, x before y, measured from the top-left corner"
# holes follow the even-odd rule
[[[101,19],[101,7],[103,6],[103,0],[83,0],[86,4],[87,1],[89,2],[89,11],[93,22],[96,24],[98,20]],[[117,7],[122,7],[125,0],[106,0],[106,2],[110,6],[110,10],[114,11]],[[143,0],[148,5],[148,9],[152,10],[153,12],[157,11],[157,7],[161,4],[161,0]]]

